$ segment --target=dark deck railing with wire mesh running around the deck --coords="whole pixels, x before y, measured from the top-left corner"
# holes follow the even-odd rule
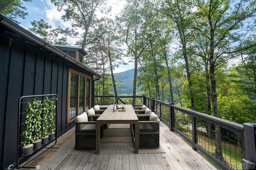
[[[256,123],[239,124],[147,96],[95,96],[95,104],[143,104],[221,169],[254,169]]]

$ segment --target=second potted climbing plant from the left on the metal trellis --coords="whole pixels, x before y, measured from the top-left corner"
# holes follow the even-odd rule
[[[33,126],[34,126],[34,135],[32,136],[32,143],[34,144],[34,149],[39,149],[42,147],[42,139],[41,137],[41,124],[42,124],[42,109],[41,109],[41,101],[33,99],[32,108],[30,110],[34,113]]]

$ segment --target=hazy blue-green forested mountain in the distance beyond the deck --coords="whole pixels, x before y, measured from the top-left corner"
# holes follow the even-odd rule
[[[140,73],[138,72],[137,76],[139,76]],[[116,80],[116,83],[121,83],[121,86],[116,87],[117,94],[132,94],[132,88],[133,88],[133,79],[134,79],[134,69],[127,70],[124,72],[118,72],[114,74],[114,78]],[[140,90],[141,87],[136,88],[136,93],[138,90]],[[111,89],[114,93],[114,88]]]

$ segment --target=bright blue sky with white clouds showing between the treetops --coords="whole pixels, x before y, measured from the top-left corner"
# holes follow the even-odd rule
[[[108,0],[109,4],[112,6],[112,16],[117,15],[123,8],[125,1],[124,0]],[[58,12],[57,8],[50,2],[50,0],[32,0],[32,2],[24,2],[22,1],[22,6],[25,6],[27,10],[25,12],[28,13],[26,19],[17,19],[20,22],[20,26],[28,29],[32,27],[31,22],[33,20],[41,20],[48,22],[49,25],[52,25],[52,28],[60,27],[71,27],[70,23],[64,22],[61,20],[61,16],[64,12]],[[71,45],[75,44],[76,39],[68,39],[68,43]],[[86,50],[86,49],[85,49]],[[128,63],[130,59],[124,58],[124,61]],[[126,70],[130,70],[134,68],[133,63],[129,63],[128,65],[120,65],[119,68],[114,70],[114,73],[124,72]]]

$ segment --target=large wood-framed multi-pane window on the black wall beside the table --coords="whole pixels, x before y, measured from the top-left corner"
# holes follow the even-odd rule
[[[73,70],[69,70],[68,84],[68,123],[76,119],[84,111],[90,108],[91,77]]]

